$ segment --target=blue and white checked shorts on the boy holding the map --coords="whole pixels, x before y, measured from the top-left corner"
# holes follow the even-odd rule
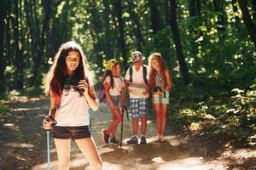
[[[130,110],[132,118],[147,117],[148,98],[146,99],[130,99]]]

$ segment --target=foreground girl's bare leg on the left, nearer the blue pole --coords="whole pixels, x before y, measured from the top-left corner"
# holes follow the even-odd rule
[[[68,170],[70,161],[71,139],[54,139],[58,154],[58,170]]]

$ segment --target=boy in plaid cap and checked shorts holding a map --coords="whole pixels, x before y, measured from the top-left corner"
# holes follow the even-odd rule
[[[143,54],[135,51],[131,54],[132,66],[126,71],[125,87],[129,91],[133,136],[127,144],[138,144],[138,122],[142,123],[140,144],[147,144],[146,129],[148,115],[148,66],[143,65]]]

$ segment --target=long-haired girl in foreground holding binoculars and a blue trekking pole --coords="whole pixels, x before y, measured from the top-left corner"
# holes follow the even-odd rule
[[[79,44],[66,42],[55,55],[54,64],[44,80],[50,111],[43,125],[44,129],[51,129],[59,170],[69,169],[71,139],[89,161],[90,169],[102,169],[102,160],[88,127],[89,107],[96,111],[99,105],[85,61]]]

